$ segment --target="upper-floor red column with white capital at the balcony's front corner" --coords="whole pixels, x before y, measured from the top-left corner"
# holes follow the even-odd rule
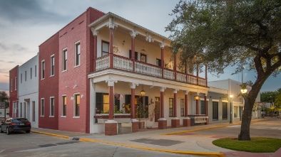
[[[113,68],[113,29],[117,27],[117,25],[114,23],[113,18],[109,18],[108,24],[109,28],[109,67]]]

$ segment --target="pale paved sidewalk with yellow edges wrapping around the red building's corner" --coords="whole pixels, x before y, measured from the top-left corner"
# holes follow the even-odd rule
[[[255,123],[255,121],[263,121],[269,119],[270,118],[254,119],[252,120],[252,123]],[[272,153],[246,153],[240,151],[232,151],[226,148],[220,148],[212,144],[212,141],[214,141],[215,139],[227,137],[212,134],[212,129],[235,125],[240,125],[240,122],[234,122],[233,124],[223,123],[180,127],[173,129],[145,129],[146,131],[139,131],[132,134],[118,134],[116,136],[105,136],[104,134],[82,134],[70,131],[58,131],[38,128],[33,128],[32,132],[78,141],[98,142],[103,144],[112,144],[129,148],[139,148],[150,151],[163,151],[168,153],[181,153],[199,156],[226,155],[258,157],[272,155]],[[206,129],[210,129],[210,134],[195,134],[195,131],[203,131]],[[235,135],[235,137],[236,136],[237,135]],[[278,151],[281,151],[281,148]]]

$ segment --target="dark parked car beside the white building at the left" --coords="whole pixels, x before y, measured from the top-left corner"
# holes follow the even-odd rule
[[[6,119],[4,124],[1,124],[1,133],[6,131],[6,134],[11,134],[14,131],[26,131],[30,133],[31,123],[26,118],[9,118]]]

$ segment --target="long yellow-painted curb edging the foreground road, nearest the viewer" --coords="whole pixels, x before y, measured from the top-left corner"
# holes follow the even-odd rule
[[[219,157],[225,156],[223,153],[195,152],[195,151],[173,151],[173,150],[149,148],[149,147],[143,147],[143,146],[133,146],[133,145],[128,145],[128,144],[119,144],[119,143],[116,143],[116,142],[101,141],[101,140],[96,140],[96,139],[80,138],[78,141],[98,142],[98,143],[102,143],[102,144],[111,144],[111,145],[123,146],[123,147],[128,147],[128,148],[138,148],[138,149],[143,149],[143,150],[147,150],[147,151],[161,151],[161,152],[166,152],[166,153],[178,153],[178,154],[186,154],[186,155],[189,154],[189,155],[198,155],[198,156],[219,156]]]

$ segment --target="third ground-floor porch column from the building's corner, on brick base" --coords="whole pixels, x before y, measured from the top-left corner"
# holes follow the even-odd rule
[[[167,129],[167,119],[164,118],[164,91],[165,87],[160,87],[160,119],[158,119],[158,129]]]

